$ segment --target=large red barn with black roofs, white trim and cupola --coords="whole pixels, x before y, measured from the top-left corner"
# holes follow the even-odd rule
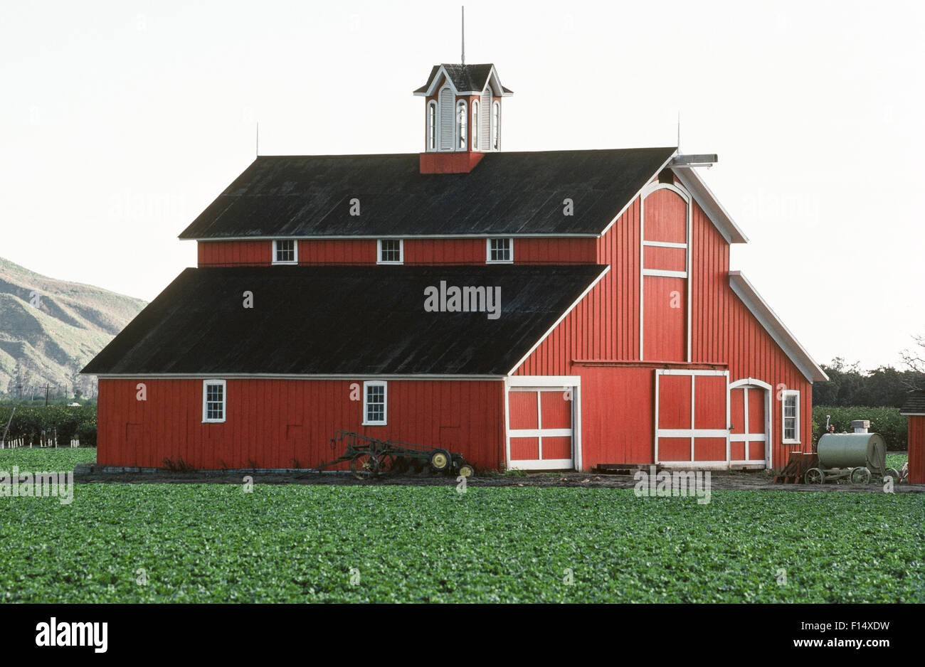
[[[440,65],[420,154],[260,156],[84,369],[98,461],[308,467],[340,429],[481,468],[778,468],[826,379],[675,148],[501,152],[492,65]]]

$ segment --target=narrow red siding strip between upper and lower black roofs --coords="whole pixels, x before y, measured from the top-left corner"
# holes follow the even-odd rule
[[[515,264],[593,264],[596,238],[515,238]],[[405,264],[484,264],[485,238],[406,238]],[[375,264],[375,238],[299,239],[300,264]],[[199,241],[200,266],[273,261],[272,241]]]

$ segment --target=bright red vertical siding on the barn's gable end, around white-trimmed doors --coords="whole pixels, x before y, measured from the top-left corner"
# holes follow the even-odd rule
[[[680,200],[665,191],[671,194],[664,198],[667,202],[672,197]],[[656,209],[649,206],[649,199],[646,205],[648,212]],[[783,467],[790,452],[810,449],[812,384],[735,296],[729,286],[729,244],[706,213],[696,203],[691,205],[691,361],[700,368],[728,368],[729,382],[751,377],[774,387],[771,466]],[[664,217],[660,219],[656,226],[660,240],[672,234],[678,242],[685,240],[669,226]],[[582,377],[586,469],[598,463],[646,463],[654,456],[651,376],[657,364],[626,367],[626,362],[639,359],[639,228],[639,200],[635,200],[598,241],[598,263],[610,264],[611,271],[515,370],[516,375]],[[682,297],[685,300],[686,294]],[[799,445],[783,445],[782,405],[777,399],[782,384],[800,392]],[[689,440],[685,442],[689,450]],[[705,443],[705,451],[712,446]]]

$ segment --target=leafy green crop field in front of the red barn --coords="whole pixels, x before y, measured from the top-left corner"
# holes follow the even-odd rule
[[[919,494],[87,484],[0,539],[6,601],[925,602]]]

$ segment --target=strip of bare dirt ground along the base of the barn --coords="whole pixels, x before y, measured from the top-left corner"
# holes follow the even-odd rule
[[[104,473],[87,472],[78,467],[74,481],[78,483],[148,483],[148,484],[240,484],[243,477],[253,477],[254,484],[322,484],[339,486],[370,486],[403,484],[408,486],[455,486],[454,477],[425,473],[422,475],[386,474],[375,479],[360,480],[350,474],[293,472],[291,474],[239,472],[169,472],[156,473]],[[765,471],[713,471],[710,473],[710,490],[752,491],[849,491],[882,493],[882,484],[774,484],[773,475]],[[638,482],[633,475],[611,475],[581,472],[543,472],[527,475],[480,475],[469,478],[473,487],[586,487],[596,489],[632,489]],[[896,493],[922,493],[925,486],[914,484],[894,485]]]

